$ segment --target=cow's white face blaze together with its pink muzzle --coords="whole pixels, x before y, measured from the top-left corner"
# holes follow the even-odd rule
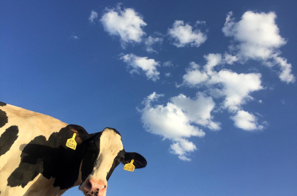
[[[121,136],[113,129],[104,129],[100,136],[99,149],[100,151],[92,173],[79,187],[86,196],[106,195],[107,175],[113,171],[113,162],[119,152],[124,149]]]

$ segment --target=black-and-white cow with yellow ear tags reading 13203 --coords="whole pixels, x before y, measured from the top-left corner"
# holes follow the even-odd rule
[[[113,170],[132,159],[135,168],[146,167],[142,155],[124,150],[116,129],[89,134],[0,102],[0,196],[56,196],[74,186],[85,196],[105,196]]]

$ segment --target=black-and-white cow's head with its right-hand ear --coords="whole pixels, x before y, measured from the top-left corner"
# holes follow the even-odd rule
[[[146,159],[138,153],[125,152],[120,133],[113,128],[90,134],[85,141],[88,146],[81,165],[82,183],[79,189],[85,195],[105,196],[107,181],[113,170],[122,162],[131,162],[135,168],[146,166]]]

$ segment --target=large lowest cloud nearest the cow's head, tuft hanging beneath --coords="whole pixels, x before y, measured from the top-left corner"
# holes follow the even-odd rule
[[[153,134],[172,140],[170,152],[177,154],[181,160],[189,161],[190,152],[196,150],[195,144],[185,138],[192,136],[203,137],[205,132],[197,125],[219,130],[220,123],[214,122],[211,111],[215,103],[211,97],[197,93],[194,99],[179,94],[172,97],[166,105],[152,105],[163,94],[156,92],[146,97],[140,110],[144,128]]]

